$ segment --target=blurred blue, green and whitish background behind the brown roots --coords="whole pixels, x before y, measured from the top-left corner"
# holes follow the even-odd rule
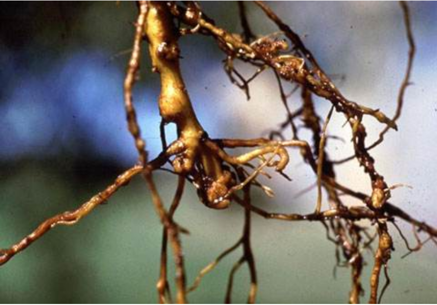
[[[235,2],[201,3],[216,23],[240,32]],[[396,2],[273,2],[273,9],[300,34],[325,71],[350,99],[389,116],[407,62],[402,12]],[[417,44],[412,80],[405,95],[399,131],[390,131],[372,151],[379,171],[392,185],[404,183],[391,201],[436,226],[437,208],[437,4],[410,3]],[[276,31],[253,4],[249,21],[260,36]],[[133,39],[134,3],[3,2],[0,5],[0,248],[7,248],[42,220],[78,207],[137,160],[124,119],[122,80]],[[251,84],[250,100],[227,79],[224,56],[208,37],[184,37],[182,72],[199,120],[212,138],[256,138],[277,128],[286,116],[271,72]],[[157,107],[159,81],[150,72],[144,44],[135,105],[151,156],[160,151]],[[238,65],[249,75],[251,69]],[[291,86],[288,86],[291,88]],[[329,103],[316,99],[325,117]],[[298,95],[290,107],[299,106]],[[349,156],[350,128],[333,115],[328,134],[332,159]],[[365,118],[368,141],[383,126]],[[301,131],[303,138],[309,134]],[[175,138],[167,126],[168,141]],[[287,174],[264,183],[275,198],[256,192],[255,202],[270,211],[307,213],[314,209],[315,182],[298,151],[291,151]],[[337,169],[340,182],[369,191],[368,177],[356,161]],[[176,178],[157,173],[168,202]],[[345,199],[348,203],[357,203]],[[183,248],[192,283],[198,271],[242,230],[242,210],[201,205],[189,185],[176,220],[191,234]],[[411,227],[401,224],[411,237]],[[426,245],[407,252],[393,227],[396,251],[389,263],[392,284],[383,301],[437,302],[437,249]],[[140,178],[121,189],[109,205],[97,208],[72,227],[57,227],[0,268],[0,302],[156,302],[161,225]],[[334,246],[318,223],[286,223],[254,216],[253,245],[259,275],[258,302],[347,302],[350,270],[335,265]],[[227,257],[191,302],[223,302],[229,270],[241,251]],[[372,258],[366,253],[371,264]],[[173,268],[173,267],[171,267]],[[363,275],[368,298],[368,265]],[[173,270],[173,269],[172,269]],[[248,290],[243,266],[234,286],[235,302]]]

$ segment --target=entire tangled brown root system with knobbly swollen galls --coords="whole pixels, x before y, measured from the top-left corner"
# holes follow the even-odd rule
[[[351,270],[351,288],[348,299],[350,303],[358,303],[364,292],[361,274],[366,266],[365,252],[373,256],[369,302],[380,302],[384,291],[390,284],[387,266],[394,250],[392,233],[389,231],[390,225],[396,229],[405,242],[409,250],[405,255],[420,250],[429,241],[437,244],[437,229],[415,219],[389,202],[391,191],[403,185],[389,186],[377,170],[376,160],[369,152],[383,142],[389,130],[397,130],[396,122],[401,115],[404,93],[410,84],[415,44],[407,5],[401,2],[409,43],[408,63],[399,88],[397,109],[390,119],[381,110],[370,109],[342,95],[297,33],[265,3],[255,1],[255,4],[278,27],[279,32],[257,37],[246,15],[247,7],[242,2],[238,3],[241,34],[228,32],[217,25],[196,2],[188,1],[181,5],[176,2],[138,2],[139,11],[135,22],[133,49],[124,80],[124,106],[128,128],[138,152],[139,163],[121,174],[113,184],[86,201],[77,210],[64,212],[47,219],[11,248],[0,250],[0,265],[41,238],[51,228],[57,225],[75,224],[107,201],[121,186],[127,185],[138,174],[142,174],[145,180],[154,208],[163,225],[160,273],[157,283],[160,303],[187,302],[187,295],[201,285],[202,279],[237,249],[242,250],[242,255],[230,269],[224,301],[226,303],[232,301],[235,275],[241,266],[247,265],[250,281],[247,302],[254,303],[258,291],[258,276],[251,244],[252,214],[266,219],[322,224],[326,230],[327,240],[335,245],[335,267],[349,267]],[[233,84],[244,91],[247,98],[251,96],[249,87],[251,82],[264,71],[273,71],[280,95],[278,102],[284,105],[286,119],[277,129],[271,130],[268,138],[255,138],[254,136],[254,139],[211,139],[209,137],[196,117],[179,66],[181,50],[178,40],[181,36],[189,35],[204,35],[213,38],[217,43],[217,48],[224,53],[224,72]],[[132,93],[140,70],[141,47],[145,41],[149,47],[152,71],[159,73],[161,77],[158,107],[162,117],[160,129],[163,151],[152,160],[148,159],[146,144],[141,138]],[[237,60],[256,67],[256,72],[245,78],[234,65]],[[289,93],[286,92],[284,86],[287,82],[293,85]],[[295,111],[292,111],[289,99],[297,91],[300,92],[296,103],[299,105]],[[330,103],[330,111],[323,122],[313,102],[314,96],[323,97],[322,102],[326,100]],[[326,143],[336,138],[329,132],[330,118],[335,113],[345,117],[346,124],[350,127],[351,145],[354,150],[352,157],[342,160],[331,160],[326,150]],[[371,145],[366,143],[364,116],[373,117],[384,127],[379,138]],[[302,124],[298,126],[296,120]],[[165,125],[170,123],[176,125],[177,140],[167,145]],[[301,138],[299,132],[302,128],[311,133],[310,139]],[[287,131],[291,132],[291,137],[286,135]],[[240,155],[229,153],[230,150],[236,148],[243,148],[246,152]],[[299,150],[302,160],[314,173],[313,187],[317,187],[317,201],[309,202],[309,208],[314,209],[314,212],[310,214],[271,213],[252,204],[251,190],[253,187],[261,188],[267,196],[274,196],[273,189],[261,183],[261,176],[271,177],[269,173],[271,169],[274,173],[290,179],[284,173],[290,160],[288,153],[290,148]],[[336,166],[351,159],[356,159],[368,176],[371,187],[369,194],[355,191],[337,181]],[[165,167],[167,163],[171,164],[171,168]],[[152,173],[157,170],[175,174],[178,179],[177,189],[168,210],[153,182]],[[359,168],[357,171],[360,171]],[[181,242],[181,233],[188,233],[188,231],[174,220],[186,181],[197,190],[199,199],[205,206],[225,209],[235,202],[244,210],[241,237],[232,247],[226,249],[203,268],[192,286],[188,288]],[[293,194],[294,197],[297,195]],[[360,204],[347,206],[344,197],[358,199]],[[362,220],[367,220],[367,222],[360,222]],[[415,247],[410,246],[397,225],[400,220],[411,224],[417,242]],[[424,238],[423,235],[426,237]],[[378,240],[377,249],[374,251],[373,244],[376,240]],[[174,295],[170,291],[171,285],[168,279],[169,245],[175,264],[176,293]],[[386,281],[380,288],[382,270]]]

